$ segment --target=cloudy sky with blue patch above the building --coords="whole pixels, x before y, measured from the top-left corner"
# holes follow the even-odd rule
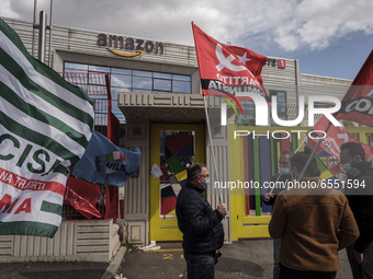
[[[32,22],[33,0],[0,0],[0,16]],[[37,1],[49,16],[49,0]],[[193,45],[215,39],[298,59],[302,73],[353,79],[373,47],[372,0],[54,0],[54,24]],[[49,20],[48,20],[49,21]]]

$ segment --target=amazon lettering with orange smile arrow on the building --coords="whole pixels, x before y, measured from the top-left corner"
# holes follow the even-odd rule
[[[124,57],[142,56],[144,51],[163,54],[163,43],[144,40],[140,38],[122,37],[115,35],[99,34],[98,45],[105,46],[108,49],[115,55]],[[134,50],[135,53],[126,53],[126,50]]]

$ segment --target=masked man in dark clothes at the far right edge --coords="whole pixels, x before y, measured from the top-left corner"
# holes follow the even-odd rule
[[[341,167],[347,172],[344,195],[357,220],[360,237],[347,247],[354,279],[373,278],[373,167],[358,142],[340,148]]]

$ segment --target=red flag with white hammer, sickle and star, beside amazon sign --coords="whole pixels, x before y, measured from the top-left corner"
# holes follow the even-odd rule
[[[223,95],[239,105],[238,100],[251,101],[242,97],[242,93],[250,92],[260,94],[270,103],[260,75],[265,56],[244,47],[224,45],[193,23],[192,26],[204,95]]]

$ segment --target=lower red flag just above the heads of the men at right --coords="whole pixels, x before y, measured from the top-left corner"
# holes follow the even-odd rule
[[[321,118],[315,124],[313,128],[313,137],[308,137],[308,146],[314,149],[316,147],[316,143],[318,142],[318,137],[324,138],[325,137],[325,128],[329,124],[329,119],[323,115]],[[316,136],[317,133],[317,136]],[[316,138],[316,139],[314,139]],[[351,133],[349,133],[343,126],[336,127],[334,125],[330,126],[326,137],[321,140],[321,144],[319,149],[316,151],[317,154],[319,154],[323,150],[328,152],[329,154],[339,158],[340,156],[340,147],[348,141],[358,142],[360,143],[364,151],[365,151],[365,160],[373,162],[373,148],[369,147],[359,140],[357,140]]]

